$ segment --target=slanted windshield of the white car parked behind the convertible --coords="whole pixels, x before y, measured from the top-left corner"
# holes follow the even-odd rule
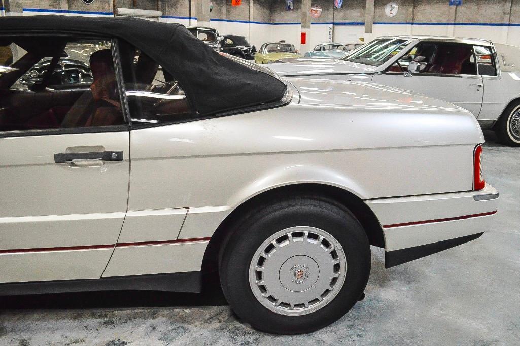
[[[342,60],[362,63],[363,65],[381,66],[396,54],[401,52],[412,40],[407,39],[376,39]]]

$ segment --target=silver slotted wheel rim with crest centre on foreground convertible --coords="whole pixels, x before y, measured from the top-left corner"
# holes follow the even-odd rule
[[[283,229],[256,250],[249,267],[255,298],[282,315],[304,315],[321,309],[343,287],[345,252],[322,229],[298,226]]]

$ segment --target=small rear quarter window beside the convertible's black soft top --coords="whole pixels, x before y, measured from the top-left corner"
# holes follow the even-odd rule
[[[132,123],[154,124],[191,119],[191,107],[175,77],[146,53],[137,52],[132,47],[129,50],[131,52],[122,52],[128,55],[122,58],[126,61],[132,59],[123,65]]]

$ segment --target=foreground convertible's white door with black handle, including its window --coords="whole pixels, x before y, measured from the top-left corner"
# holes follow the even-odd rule
[[[99,278],[121,231],[129,180],[111,41],[0,39],[20,53],[0,67],[0,282]],[[72,43],[84,48],[89,70],[63,74]],[[33,72],[29,80],[44,59],[41,79]],[[46,87],[55,73],[59,91]],[[85,81],[90,87],[67,90]],[[45,109],[36,107],[42,99]]]

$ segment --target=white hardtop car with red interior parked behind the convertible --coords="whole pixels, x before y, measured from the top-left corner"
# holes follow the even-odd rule
[[[337,60],[270,64],[281,76],[368,81],[451,102],[520,146],[520,48],[439,36],[380,37]]]

